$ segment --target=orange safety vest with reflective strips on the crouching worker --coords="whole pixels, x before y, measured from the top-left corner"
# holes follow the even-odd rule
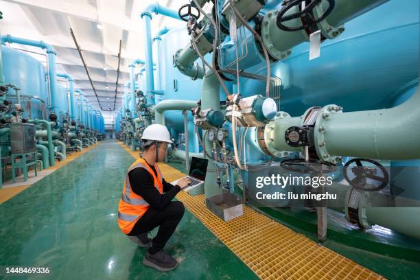
[[[153,178],[154,187],[159,190],[159,193],[163,194],[163,178],[161,170],[157,164],[154,164],[157,177],[155,176],[152,168],[145,162],[144,159],[137,159],[130,168],[128,168],[126,178],[124,180],[124,189],[119,200],[118,205],[118,226],[123,233],[130,233],[133,226],[135,226],[137,220],[144,215],[145,211],[148,211],[149,204],[141,196],[137,195],[132,191],[130,180],[128,179],[128,173],[135,168],[144,168],[149,172]]]

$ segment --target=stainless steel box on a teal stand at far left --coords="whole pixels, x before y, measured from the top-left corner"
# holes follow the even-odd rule
[[[33,124],[10,124],[12,154],[25,154],[36,150],[35,126]]]

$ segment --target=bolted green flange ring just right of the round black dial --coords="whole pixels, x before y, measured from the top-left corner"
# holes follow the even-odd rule
[[[341,156],[333,156],[329,154],[327,150],[327,143],[325,143],[325,133],[327,133],[326,124],[331,115],[342,113],[342,107],[335,104],[330,104],[322,109],[318,113],[316,118],[316,124],[314,128],[314,138],[315,138],[315,148],[319,158],[323,161],[328,161],[329,163],[339,163],[342,161]]]

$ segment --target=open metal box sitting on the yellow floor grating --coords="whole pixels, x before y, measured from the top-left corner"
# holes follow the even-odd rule
[[[207,198],[206,207],[224,222],[244,214],[242,199],[235,194],[231,194],[227,189],[223,189],[222,194]]]

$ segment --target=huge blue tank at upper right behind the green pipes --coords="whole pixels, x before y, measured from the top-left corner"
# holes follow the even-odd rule
[[[309,60],[309,43],[272,65],[281,78],[278,110],[302,115],[310,106],[338,104],[345,111],[390,108],[419,81],[419,1],[392,0],[345,23]],[[417,8],[413,8],[417,7]],[[386,18],[386,20],[384,20]],[[404,43],[403,43],[404,42]],[[265,62],[246,71],[266,74]],[[264,94],[263,82],[241,80],[244,96]]]

